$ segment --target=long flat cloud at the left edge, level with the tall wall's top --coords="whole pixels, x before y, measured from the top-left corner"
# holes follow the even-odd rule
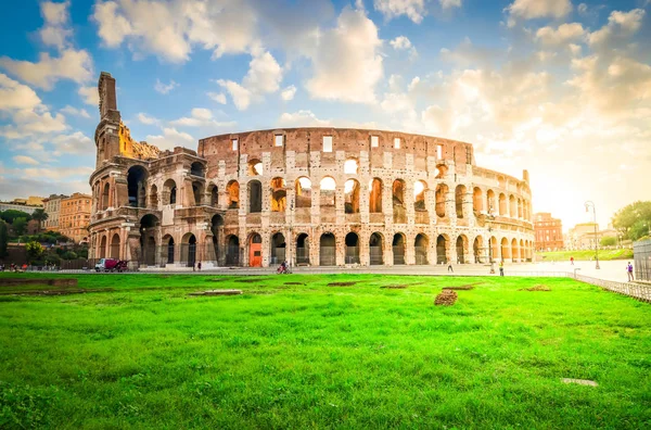
[[[2,56],[0,67],[21,80],[46,90],[51,90],[61,79],[84,84],[92,78],[92,59],[85,50],[63,50],[59,58],[51,58],[49,53],[41,52],[37,63]]]

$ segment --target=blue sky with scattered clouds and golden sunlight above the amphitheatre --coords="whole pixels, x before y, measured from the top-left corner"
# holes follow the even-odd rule
[[[162,149],[339,126],[474,144],[563,229],[651,200],[651,0],[22,0],[0,26],[0,199],[89,192],[97,81]]]

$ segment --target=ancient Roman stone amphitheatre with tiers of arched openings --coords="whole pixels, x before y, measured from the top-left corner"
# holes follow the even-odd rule
[[[305,127],[161,151],[131,139],[110,74],[98,89],[95,258],[205,268],[532,260],[527,172],[477,167],[470,143]]]

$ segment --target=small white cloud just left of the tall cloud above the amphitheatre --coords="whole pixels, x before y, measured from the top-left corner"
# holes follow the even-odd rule
[[[276,92],[282,80],[282,68],[269,52],[259,52],[248,63],[248,72],[242,84],[218,79],[233,99],[235,108],[244,111],[254,101],[263,100],[267,93]]]

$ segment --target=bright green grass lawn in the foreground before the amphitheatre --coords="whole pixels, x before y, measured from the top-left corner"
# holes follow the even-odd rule
[[[342,281],[357,283],[328,287]],[[469,283],[456,305],[433,305]],[[551,291],[520,291],[540,283]],[[572,279],[90,275],[79,287],[101,292],[0,295],[0,428],[651,426],[651,305]],[[188,295],[222,288],[244,294]]]

